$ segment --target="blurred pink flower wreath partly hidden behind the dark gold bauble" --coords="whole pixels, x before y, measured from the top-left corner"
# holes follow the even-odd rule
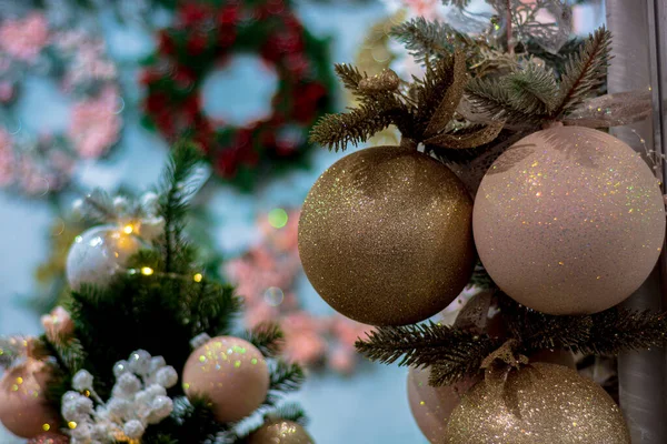
[[[248,329],[276,321],[285,332],[287,359],[350,374],[358,361],[355,341],[371,327],[339,314],[313,316],[299,307],[293,289],[301,274],[298,220],[299,212],[291,211],[287,224],[277,229],[268,223],[268,218],[260,218],[260,241],[242,256],[229,261],[226,274],[246,300],[243,322]]]

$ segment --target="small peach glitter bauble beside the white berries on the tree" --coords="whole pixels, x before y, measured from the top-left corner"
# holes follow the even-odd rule
[[[188,397],[208,397],[218,421],[233,422],[250,415],[267,397],[269,367],[248,341],[218,336],[192,352],[182,381]]]

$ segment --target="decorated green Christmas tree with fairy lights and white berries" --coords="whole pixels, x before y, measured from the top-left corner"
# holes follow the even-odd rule
[[[230,336],[240,300],[183,235],[199,159],[180,143],[156,193],[120,212],[103,192],[79,205],[104,225],[72,246],[68,310],[42,319],[42,336],[0,344],[10,431],[34,443],[241,443],[262,416],[303,423],[298,407],[277,406],[303,380],[278,357],[280,330]]]

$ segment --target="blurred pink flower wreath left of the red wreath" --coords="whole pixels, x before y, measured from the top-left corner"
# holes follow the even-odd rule
[[[58,80],[74,98],[70,124],[62,134],[29,134],[11,115],[16,84],[30,70],[50,64],[62,64]],[[0,114],[0,186],[14,185],[29,195],[62,189],[77,160],[100,158],[119,140],[120,102],[118,73],[102,40],[52,30],[40,12],[0,22],[0,103],[7,110]]]

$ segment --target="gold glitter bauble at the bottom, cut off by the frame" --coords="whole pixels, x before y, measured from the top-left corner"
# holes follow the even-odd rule
[[[535,363],[470,389],[447,425],[447,444],[630,444],[620,410],[593,381]]]

